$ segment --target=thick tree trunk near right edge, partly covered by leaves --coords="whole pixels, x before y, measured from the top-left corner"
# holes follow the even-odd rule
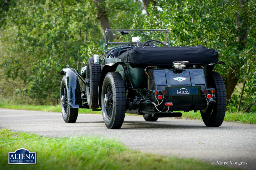
[[[245,47],[245,40],[247,39],[247,11],[244,9],[243,5],[246,3],[244,0],[240,0],[239,10],[237,12],[237,22],[236,22],[236,28],[238,31],[237,39],[238,42],[238,49],[242,50]],[[238,54],[237,54],[238,55]],[[231,98],[231,95],[234,91],[234,88],[237,85],[239,77],[236,76],[236,73],[240,72],[240,67],[231,66],[231,68],[228,70],[226,75],[226,92],[227,92],[227,100]]]

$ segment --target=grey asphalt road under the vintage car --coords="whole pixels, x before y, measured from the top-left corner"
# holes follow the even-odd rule
[[[146,122],[142,116],[125,116],[121,129],[107,129],[100,114],[79,114],[76,123],[68,124],[61,113],[0,109],[0,128],[51,137],[115,137],[142,152],[256,169],[256,125],[250,124],[224,122],[220,127],[206,127],[200,120],[159,118]],[[230,165],[230,161],[247,165]]]

